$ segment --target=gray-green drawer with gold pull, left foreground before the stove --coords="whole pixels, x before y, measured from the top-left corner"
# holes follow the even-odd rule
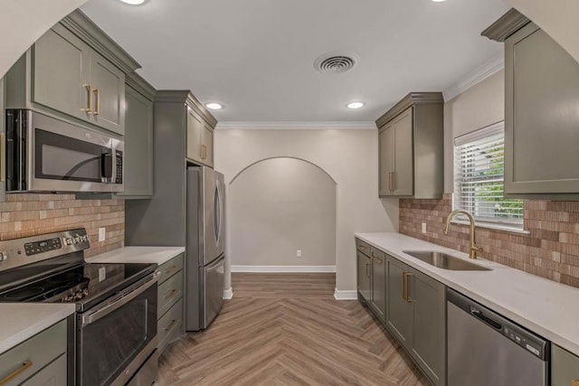
[[[29,367],[6,383],[7,385],[20,384],[34,373],[39,372],[55,358],[66,353],[66,339],[67,322],[62,320],[6,353],[0,354],[0,382],[24,367],[24,363],[28,364]],[[66,379],[66,374],[64,374],[64,378]]]

